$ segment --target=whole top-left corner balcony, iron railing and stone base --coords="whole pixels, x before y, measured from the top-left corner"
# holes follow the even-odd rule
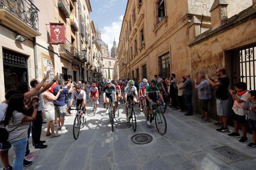
[[[24,36],[39,36],[38,11],[30,0],[0,0],[0,23]]]

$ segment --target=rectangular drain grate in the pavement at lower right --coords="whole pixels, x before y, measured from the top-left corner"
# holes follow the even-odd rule
[[[247,157],[246,155],[242,154],[241,152],[229,146],[221,146],[221,147],[214,148],[213,150],[217,151],[218,153],[222,154],[226,158],[233,161]]]

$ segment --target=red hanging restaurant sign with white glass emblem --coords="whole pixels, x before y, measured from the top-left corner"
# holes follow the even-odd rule
[[[51,44],[65,43],[65,27],[64,23],[50,23]]]

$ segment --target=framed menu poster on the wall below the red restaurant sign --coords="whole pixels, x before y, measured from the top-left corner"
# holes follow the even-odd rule
[[[42,56],[42,68],[43,68],[43,77],[49,72],[49,82],[54,79],[54,59],[49,55],[41,53]]]

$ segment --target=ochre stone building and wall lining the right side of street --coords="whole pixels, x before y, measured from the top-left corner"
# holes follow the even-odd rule
[[[117,50],[121,79],[151,80],[159,73],[175,73],[178,78],[190,73],[194,79],[199,72],[217,78],[216,69],[225,67],[230,78],[236,76],[232,82],[254,81],[255,86],[255,72],[246,77],[240,73],[245,66],[234,64],[236,49],[245,47],[240,53],[249,55],[255,51],[255,0],[142,0],[141,6],[139,2],[127,2]],[[194,111],[199,112],[197,100],[193,90]],[[215,101],[211,99],[210,107]],[[216,115],[215,108],[210,110]]]

